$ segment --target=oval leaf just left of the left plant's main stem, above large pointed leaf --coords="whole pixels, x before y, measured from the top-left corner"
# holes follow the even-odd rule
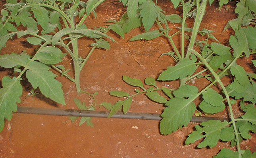
[[[40,62],[44,64],[57,64],[62,61],[62,59],[58,56],[51,56],[48,53],[44,52],[37,52],[34,56],[35,60],[39,60]]]

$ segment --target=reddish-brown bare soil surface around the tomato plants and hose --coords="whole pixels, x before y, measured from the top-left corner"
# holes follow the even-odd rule
[[[182,17],[182,8],[173,8],[171,1],[158,0],[158,5],[167,13],[176,13]],[[2,6],[2,5],[1,5]],[[228,29],[223,32],[223,28],[231,19],[237,15],[234,12],[235,2],[229,2],[220,10],[218,1],[212,6],[207,6],[206,15],[202,21],[201,28],[214,30],[212,33],[222,44],[228,45],[229,36],[233,34]],[[95,9],[97,18],[93,15],[85,21],[88,28],[104,26],[107,20],[119,20],[126,11],[125,7],[118,1],[107,0]],[[192,27],[194,19],[188,19],[188,27]],[[173,34],[179,30],[176,28],[180,24],[171,24],[169,27]],[[157,26],[153,26],[152,30]],[[175,61],[169,56],[162,56],[162,53],[173,51],[170,43],[164,37],[159,37],[150,41],[133,41],[129,39],[137,34],[143,33],[143,28],[136,28],[125,34],[122,39],[114,32],[108,35],[114,37],[117,43],[111,43],[110,50],[95,49],[85,67],[81,71],[81,87],[87,92],[99,92],[96,96],[97,103],[111,102],[112,104],[123,98],[116,98],[109,95],[111,90],[123,90],[134,94],[135,87],[131,87],[122,81],[122,75],[144,81],[146,77],[154,77],[167,68],[174,66]],[[181,45],[180,35],[174,37],[177,45]],[[199,37],[198,40],[200,40]],[[79,53],[85,57],[93,41],[89,38],[79,40]],[[35,53],[36,46],[30,45],[25,37],[9,40],[6,47],[2,49],[0,55],[12,52],[21,53],[26,50],[28,54]],[[179,48],[180,49],[180,48]],[[255,56],[251,57],[255,58]],[[245,66],[246,71],[253,72],[246,63],[250,59],[242,58],[239,64]],[[69,75],[73,76],[72,61],[66,56],[61,63],[66,69],[71,69]],[[58,74],[57,71],[52,70]],[[255,73],[255,72],[254,72]],[[0,77],[17,75],[13,70],[0,68]],[[89,105],[92,100],[87,94],[77,95],[75,84],[64,76],[57,79],[63,84],[64,96],[67,105],[61,105],[38,94],[34,97],[26,97],[32,86],[23,79],[23,96],[19,106],[45,107],[61,109],[77,109],[73,98],[80,99]],[[227,79],[226,83],[230,81]],[[206,87],[209,81],[198,79],[192,83],[199,90]],[[157,82],[158,87],[178,88],[178,81]],[[218,89],[217,87],[213,87]],[[38,89],[35,92],[40,92]],[[199,101],[195,102],[197,105]],[[234,105],[235,117],[241,115],[237,105]],[[162,104],[150,101],[146,96],[140,95],[133,98],[133,103],[129,112],[138,113],[162,113]],[[106,111],[104,107],[97,107],[96,110]],[[227,110],[222,111],[214,117],[228,117]],[[198,123],[189,123],[187,127],[173,132],[170,135],[161,135],[159,121],[152,120],[130,120],[130,119],[105,119],[93,118],[94,127],[79,126],[79,120],[74,123],[68,117],[45,116],[13,113],[12,120],[5,122],[4,130],[0,133],[0,158],[212,158],[220,149],[229,148],[229,143],[218,142],[218,145],[209,149],[207,147],[198,149],[196,146],[200,141],[185,145],[185,139],[194,130]],[[256,151],[256,134],[252,134],[250,139],[241,143],[242,149]]]

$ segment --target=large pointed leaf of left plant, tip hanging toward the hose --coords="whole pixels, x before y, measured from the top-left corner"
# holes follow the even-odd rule
[[[29,70],[26,76],[34,89],[39,87],[44,96],[65,105],[62,84],[54,79],[57,75],[48,71],[50,67],[34,61],[30,62],[27,68]]]

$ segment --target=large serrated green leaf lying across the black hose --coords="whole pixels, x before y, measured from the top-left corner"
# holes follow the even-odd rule
[[[184,98],[171,98],[166,102],[166,107],[162,113],[163,119],[160,122],[160,132],[171,134],[182,126],[187,126],[196,110],[196,105],[192,100]]]

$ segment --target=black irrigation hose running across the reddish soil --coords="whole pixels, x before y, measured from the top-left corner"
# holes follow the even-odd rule
[[[104,117],[107,118],[108,111],[90,111],[90,110],[73,110],[73,109],[50,109],[41,107],[22,107],[18,106],[16,113],[26,113],[26,114],[39,114],[39,115],[56,115],[56,116],[76,116],[76,117]],[[140,120],[162,120],[161,114],[154,113],[126,113],[117,112],[111,118],[118,119],[140,119]],[[202,117],[202,116],[192,116],[190,122],[204,122],[208,120],[227,120],[229,118],[223,117]]]

